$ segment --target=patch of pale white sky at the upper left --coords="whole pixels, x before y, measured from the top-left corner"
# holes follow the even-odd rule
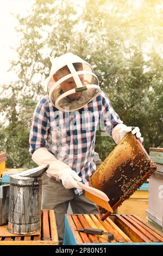
[[[16,57],[16,48],[20,37],[15,31],[17,19],[12,15],[26,15],[34,0],[1,0],[0,1],[0,87],[16,79],[12,72],[8,72],[10,60]]]

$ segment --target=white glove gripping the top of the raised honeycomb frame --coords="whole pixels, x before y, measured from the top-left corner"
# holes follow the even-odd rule
[[[118,144],[128,132],[132,131],[132,133],[139,138],[141,143],[143,142],[143,138],[141,137],[139,127],[135,127],[132,130],[132,126],[127,126],[125,124],[118,124],[112,129],[112,138],[114,139],[115,143]]]

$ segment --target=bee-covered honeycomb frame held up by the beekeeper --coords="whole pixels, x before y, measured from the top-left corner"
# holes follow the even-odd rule
[[[156,166],[142,143],[129,132],[93,173],[89,182],[90,186],[103,191],[109,197],[109,205],[114,211],[155,170]],[[97,208],[101,220],[105,220],[111,214],[111,211],[99,206]]]

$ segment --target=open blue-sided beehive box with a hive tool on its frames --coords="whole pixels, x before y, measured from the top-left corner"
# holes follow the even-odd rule
[[[78,228],[97,228],[112,233],[114,240],[108,242],[106,235],[91,235],[77,231]],[[101,221],[99,215],[66,215],[64,245],[163,245],[163,234],[135,215],[111,215]]]

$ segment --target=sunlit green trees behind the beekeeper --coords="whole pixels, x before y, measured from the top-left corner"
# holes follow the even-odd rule
[[[12,70],[18,82],[5,85],[1,150],[8,167],[33,167],[29,129],[51,60],[73,52],[93,65],[99,83],[124,124],[139,126],[147,151],[163,147],[162,1],[36,0],[30,15],[18,17],[22,40]],[[34,81],[35,76],[40,81]],[[97,132],[102,160],[115,147]]]

